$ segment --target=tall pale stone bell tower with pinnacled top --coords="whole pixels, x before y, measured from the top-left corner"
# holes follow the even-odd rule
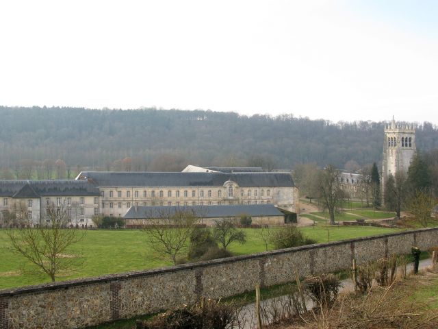
[[[382,186],[390,174],[408,172],[415,154],[415,126],[396,123],[394,117],[389,125],[385,124],[385,140],[383,141]]]

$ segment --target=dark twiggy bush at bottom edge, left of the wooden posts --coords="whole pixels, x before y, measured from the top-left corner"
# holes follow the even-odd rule
[[[238,309],[232,304],[214,300],[157,315],[137,324],[141,329],[225,329],[239,328]]]

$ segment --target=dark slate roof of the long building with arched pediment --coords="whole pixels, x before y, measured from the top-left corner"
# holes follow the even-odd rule
[[[290,173],[133,173],[83,171],[77,179],[97,186],[222,186],[232,180],[242,187],[293,187]]]

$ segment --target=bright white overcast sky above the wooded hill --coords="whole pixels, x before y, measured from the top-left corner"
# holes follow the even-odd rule
[[[438,1],[0,2],[0,105],[438,124]]]

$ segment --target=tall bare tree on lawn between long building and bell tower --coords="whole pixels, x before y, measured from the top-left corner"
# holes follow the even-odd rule
[[[335,212],[342,205],[345,198],[345,193],[341,188],[339,170],[329,164],[320,171],[318,182],[318,199],[320,200],[320,204],[329,210],[330,223],[334,225]]]

